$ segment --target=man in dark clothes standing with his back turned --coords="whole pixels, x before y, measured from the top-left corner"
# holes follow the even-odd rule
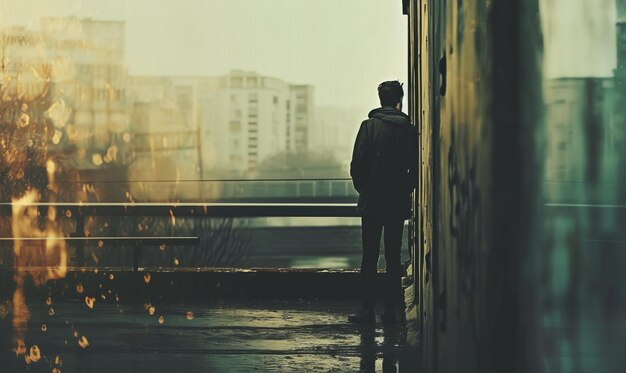
[[[404,221],[411,216],[411,192],[417,185],[417,129],[402,110],[404,91],[398,81],[378,86],[381,107],[361,123],[350,163],[359,192],[362,217],[361,309],[348,319],[375,321],[374,305],[380,239],[384,230],[385,312],[383,322],[395,322],[402,300],[401,246]]]

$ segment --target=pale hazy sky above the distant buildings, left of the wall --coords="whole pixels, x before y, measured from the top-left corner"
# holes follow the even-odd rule
[[[377,106],[380,81],[406,81],[400,0],[0,0],[0,24],[43,16],[126,21],[131,74],[254,70],[313,84],[318,105]]]

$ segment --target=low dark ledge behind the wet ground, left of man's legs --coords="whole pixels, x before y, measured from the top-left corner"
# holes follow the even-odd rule
[[[29,271],[37,269],[29,268]],[[0,292],[13,290],[14,270],[0,269]],[[379,272],[378,276],[383,274]],[[49,280],[43,286],[30,283],[25,290],[29,297],[45,299],[52,294],[55,299],[81,300],[84,294],[77,292],[77,285],[81,284],[85,291],[111,290],[111,294],[119,295],[122,303],[142,303],[148,299],[165,303],[237,298],[356,300],[359,281],[359,271],[353,269],[159,267],[132,272],[130,268],[119,267],[71,268],[63,279]]]

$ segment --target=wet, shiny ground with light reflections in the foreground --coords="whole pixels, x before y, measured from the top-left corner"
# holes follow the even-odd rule
[[[37,345],[41,359],[27,364],[24,354],[10,350],[7,317],[0,321],[0,366],[2,372],[63,373],[414,372],[417,355],[406,346],[404,329],[350,324],[346,315],[355,308],[352,301],[308,300],[96,302],[93,309],[77,301],[44,302],[31,307],[22,331],[26,350]]]

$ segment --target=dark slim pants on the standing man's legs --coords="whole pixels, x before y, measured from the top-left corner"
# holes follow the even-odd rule
[[[363,216],[361,219],[363,259],[361,260],[361,297],[365,311],[373,310],[376,302],[376,274],[380,254],[380,238],[385,232],[385,262],[387,273],[383,283],[383,300],[387,309],[396,307],[402,299],[401,247],[404,220]]]

